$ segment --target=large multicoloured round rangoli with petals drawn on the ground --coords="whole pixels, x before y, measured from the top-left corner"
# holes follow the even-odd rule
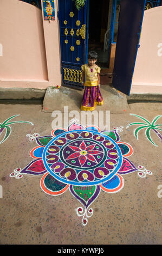
[[[28,134],[29,140],[37,143],[30,151],[33,160],[23,169],[16,168],[10,177],[42,175],[43,192],[59,196],[69,191],[80,202],[76,214],[86,225],[93,215],[91,205],[101,190],[119,192],[126,174],[137,172],[141,178],[152,174],[143,166],[135,167],[128,159],[133,148],[120,141],[121,131],[121,127],[100,131],[99,127],[83,127],[73,121],[67,130],[55,129],[47,136]]]

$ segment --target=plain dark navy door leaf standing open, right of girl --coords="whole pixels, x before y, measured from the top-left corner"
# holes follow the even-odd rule
[[[122,0],[113,69],[113,87],[129,95],[146,0]]]

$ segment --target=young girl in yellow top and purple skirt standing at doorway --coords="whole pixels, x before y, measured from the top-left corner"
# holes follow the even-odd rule
[[[82,65],[82,83],[85,77],[85,92],[83,94],[81,110],[93,111],[96,105],[103,105],[100,93],[100,68],[95,63],[98,59],[96,52],[88,53],[88,64]]]

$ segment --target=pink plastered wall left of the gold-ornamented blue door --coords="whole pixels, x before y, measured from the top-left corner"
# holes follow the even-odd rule
[[[55,1],[57,14],[57,1]],[[0,1],[0,87],[61,86],[59,22],[18,0]]]

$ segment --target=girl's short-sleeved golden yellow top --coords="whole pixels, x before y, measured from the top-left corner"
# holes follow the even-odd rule
[[[85,64],[81,66],[81,69],[85,72],[85,86],[98,86],[98,74],[100,74],[101,68],[95,65],[94,68],[91,69],[88,64]]]

